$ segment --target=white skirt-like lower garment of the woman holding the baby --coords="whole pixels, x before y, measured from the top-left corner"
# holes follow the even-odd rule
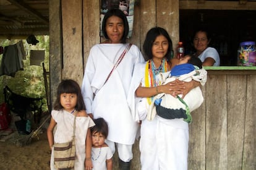
[[[156,116],[152,121],[144,120],[140,132],[142,170],[187,170],[188,129],[173,127]]]

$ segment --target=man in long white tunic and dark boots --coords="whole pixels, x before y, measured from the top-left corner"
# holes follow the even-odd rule
[[[117,144],[119,168],[130,169],[138,123],[132,118],[127,96],[134,66],[144,59],[137,46],[127,49],[129,25],[122,11],[109,10],[103,19],[102,30],[107,40],[90,50],[82,82],[83,100],[87,113],[108,122],[106,143],[113,153]],[[120,59],[124,51],[126,54]]]

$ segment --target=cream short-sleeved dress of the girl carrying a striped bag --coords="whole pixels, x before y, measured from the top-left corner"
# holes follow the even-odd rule
[[[57,122],[54,143],[72,140],[75,116],[65,110],[53,110],[51,116]],[[85,169],[85,139],[88,128],[93,125],[95,124],[90,117],[76,117],[75,119],[75,169]],[[51,169],[55,169],[53,150],[51,151]]]

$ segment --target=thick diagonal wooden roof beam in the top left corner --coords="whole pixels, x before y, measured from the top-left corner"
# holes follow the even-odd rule
[[[24,4],[22,1],[16,1],[16,0],[7,0],[7,1],[11,2],[14,6],[17,6],[20,9],[23,9],[24,11],[28,12],[29,14],[34,15],[36,18],[38,18],[42,22],[46,23],[47,25],[49,24],[48,19],[43,17],[39,12],[35,11],[31,7]]]

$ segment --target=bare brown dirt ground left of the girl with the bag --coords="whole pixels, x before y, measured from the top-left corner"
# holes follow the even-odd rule
[[[0,142],[0,169],[49,169],[51,151],[46,131],[23,147],[10,142]]]

